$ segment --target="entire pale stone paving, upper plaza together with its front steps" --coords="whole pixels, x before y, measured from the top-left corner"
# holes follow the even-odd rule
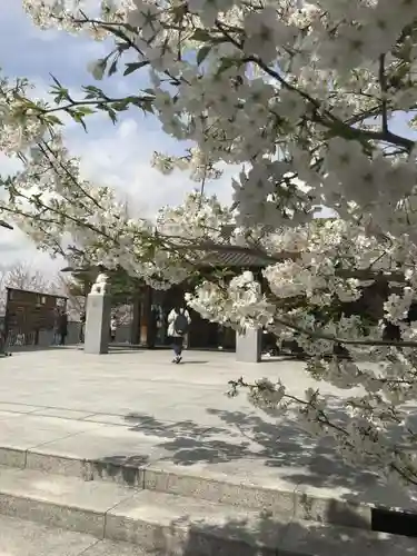
[[[0,359],[0,556],[417,554],[417,539],[369,530],[369,502],[415,510],[413,493],[344,465],[297,415],[225,395],[239,376],[302,395],[317,386],[302,363],[170,355]],[[320,386],[345,419],[346,393]]]

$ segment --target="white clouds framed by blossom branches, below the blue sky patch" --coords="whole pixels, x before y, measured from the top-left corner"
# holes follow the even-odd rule
[[[140,112],[137,112],[140,115]],[[191,181],[186,172],[176,171],[163,176],[150,166],[155,150],[168,151],[176,143],[157,126],[143,122],[143,118],[128,118],[113,126],[107,117],[96,117],[91,133],[80,126],[67,127],[67,143],[70,152],[81,158],[83,176],[97,185],[110,186],[119,197],[128,201],[135,216],[152,217],[165,205],[178,205],[187,191],[199,183]],[[178,146],[177,146],[178,151]],[[0,169],[16,170],[14,162],[0,157]],[[224,202],[230,202],[230,179],[234,171],[227,169],[221,179],[206,186],[207,193],[216,193]],[[48,272],[64,266],[62,260],[51,260],[47,254],[37,251],[34,245],[19,230],[4,231],[0,239],[0,262],[30,262]]]

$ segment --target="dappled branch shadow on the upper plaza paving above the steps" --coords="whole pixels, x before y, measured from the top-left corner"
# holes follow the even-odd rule
[[[417,512],[411,489],[406,492],[387,485],[377,474],[347,465],[329,439],[316,439],[300,430],[296,416],[267,421],[255,413],[219,409],[207,409],[207,413],[218,417],[218,426],[208,427],[192,420],[162,421],[141,413],[128,414],[125,419],[129,430],[152,437],[153,463],[169,461],[186,468],[203,465],[207,470],[222,474],[258,474],[260,485],[262,469],[268,468],[268,484],[276,477],[277,483],[286,480],[295,486],[325,488],[324,496],[328,498]],[[341,406],[334,404],[332,413],[339,423],[347,419]],[[155,438],[160,441],[155,443]],[[127,465],[146,465],[150,463],[148,456],[110,455],[102,463],[111,465],[116,460],[117,465],[119,459],[126,463],[131,458]],[[139,459],[135,461],[135,457]],[[417,524],[414,527],[417,530]]]

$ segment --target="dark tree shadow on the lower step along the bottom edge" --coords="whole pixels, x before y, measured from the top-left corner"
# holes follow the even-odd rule
[[[330,508],[331,510],[331,508]],[[371,539],[370,539],[371,537]],[[259,513],[254,519],[230,519],[222,525],[191,520],[183,516],[140,537],[140,545],[152,556],[411,556],[414,539],[395,540],[356,528],[287,520]]]

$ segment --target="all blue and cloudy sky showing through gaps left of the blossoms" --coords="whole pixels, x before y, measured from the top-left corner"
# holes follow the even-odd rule
[[[87,66],[106,51],[106,43],[86,37],[72,37],[57,30],[41,31],[24,14],[20,0],[1,0],[0,67],[8,77],[27,77],[36,85],[39,97],[48,93],[50,73],[73,95],[81,91],[82,85],[93,85]],[[136,90],[138,78],[112,76],[101,86],[115,96],[122,96]],[[88,133],[77,125],[66,128],[67,145],[71,152],[81,157],[85,176],[97,183],[115,187],[129,200],[136,214],[151,215],[162,205],[178,203],[186,191],[196,187],[186,173],[163,177],[150,167],[155,150],[180,151],[180,146],[160,130],[155,117],[130,110],[117,126],[105,115],[93,116],[88,121]],[[0,157],[0,171],[8,168],[10,161]],[[210,183],[207,191],[227,202],[231,192],[230,172]],[[37,252],[18,230],[0,231],[0,265],[16,260],[42,268],[47,265],[51,270],[61,266],[61,261],[51,262],[48,256]]]

